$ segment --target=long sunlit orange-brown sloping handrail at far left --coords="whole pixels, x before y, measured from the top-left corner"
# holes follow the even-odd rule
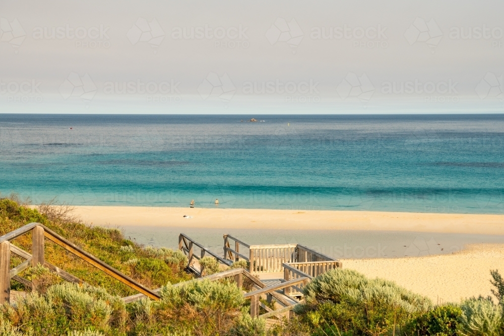
[[[52,230],[46,228],[43,225],[40,225],[44,228],[44,236],[48,238],[49,240],[53,241],[57,245],[61,246],[62,248],[66,249],[69,252],[72,252],[73,254],[77,255],[81,259],[87,261],[91,265],[95,266],[99,270],[105,272],[106,274],[110,275],[111,277],[115,278],[116,280],[122,282],[123,284],[135,289],[136,291],[150,297],[153,300],[159,300],[159,295],[152,290],[148,289],[144,285],[136,282],[132,278],[128,277],[127,275],[117,271],[114,267],[106,264],[105,262],[101,261],[94,255],[84,251],[74,243],[70,242],[69,240],[61,237],[57,233],[53,232]]]

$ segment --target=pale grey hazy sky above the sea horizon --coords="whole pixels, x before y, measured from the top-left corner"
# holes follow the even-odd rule
[[[0,113],[502,113],[504,2],[0,2]]]

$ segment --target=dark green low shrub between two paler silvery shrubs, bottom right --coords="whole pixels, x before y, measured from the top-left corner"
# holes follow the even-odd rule
[[[406,335],[455,336],[462,309],[455,304],[437,306],[410,320],[405,328]]]

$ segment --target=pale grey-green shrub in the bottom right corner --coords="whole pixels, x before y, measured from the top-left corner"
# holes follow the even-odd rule
[[[471,298],[460,305],[459,333],[464,336],[496,336],[501,327],[501,308],[490,297]]]

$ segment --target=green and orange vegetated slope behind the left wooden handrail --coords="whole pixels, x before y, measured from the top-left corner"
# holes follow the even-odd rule
[[[68,222],[65,219],[51,221],[37,210],[20,206],[12,199],[0,199],[0,235],[30,222],[44,224],[59,235],[151,289],[166,285],[167,282],[186,281],[191,277],[183,272],[181,264],[169,263],[165,261],[164,257],[153,255],[149,250],[125,239],[118,229],[91,227],[75,221]],[[16,238],[11,243],[31,252],[31,234]],[[131,246],[131,248],[121,248],[121,246]],[[45,258],[46,261],[90,285],[106,288],[111,294],[119,296],[136,294],[134,290],[112,279],[47,239],[45,242]],[[132,262],[132,259],[138,260]],[[130,262],[128,262],[129,260]],[[21,261],[21,258],[14,257],[12,266]],[[22,285],[15,281],[12,281],[11,285],[13,289],[22,289],[20,287]]]

